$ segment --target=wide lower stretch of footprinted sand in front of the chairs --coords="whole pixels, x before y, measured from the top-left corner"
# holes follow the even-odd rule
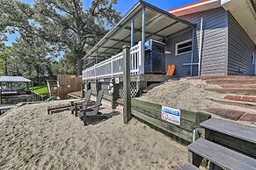
[[[177,169],[187,162],[186,146],[134,118],[125,125],[119,114],[84,126],[69,111],[48,115],[48,105],[58,103],[0,117],[0,169]]]

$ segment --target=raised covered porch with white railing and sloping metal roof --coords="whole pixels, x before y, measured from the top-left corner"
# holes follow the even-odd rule
[[[156,6],[139,1],[121,21],[106,34],[106,36],[84,56],[83,81],[105,80],[113,77],[121,77],[123,74],[122,46],[130,46],[132,81],[140,79],[148,74],[146,79],[150,81],[161,81],[159,77],[165,75],[165,42],[175,33],[190,30],[194,32],[195,25],[178,18],[167,11]],[[194,36],[193,36],[194,38]],[[163,72],[149,74],[145,71],[147,56],[145,50],[149,48],[150,42],[164,45],[161,53],[164,60]],[[194,40],[192,40],[192,43]],[[193,46],[193,44],[191,45]],[[152,52],[150,52],[152,53]],[[193,53],[192,56],[193,58]],[[151,63],[152,65],[156,63]],[[187,67],[193,69],[194,63],[187,63]],[[152,75],[152,76],[149,76]]]

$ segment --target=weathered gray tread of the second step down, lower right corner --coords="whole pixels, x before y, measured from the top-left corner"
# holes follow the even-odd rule
[[[256,170],[256,159],[234,152],[221,145],[216,145],[203,138],[197,139],[187,148],[190,152],[194,152],[225,169]]]

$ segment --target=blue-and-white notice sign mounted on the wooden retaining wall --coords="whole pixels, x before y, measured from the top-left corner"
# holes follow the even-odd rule
[[[162,120],[180,125],[180,110],[162,106]]]

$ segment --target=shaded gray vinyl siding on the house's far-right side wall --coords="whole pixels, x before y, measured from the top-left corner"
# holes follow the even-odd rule
[[[243,74],[252,75],[254,66],[252,64],[252,53],[255,45],[238,24],[235,18],[229,13],[229,55],[228,55],[228,74],[239,74],[239,68]]]

